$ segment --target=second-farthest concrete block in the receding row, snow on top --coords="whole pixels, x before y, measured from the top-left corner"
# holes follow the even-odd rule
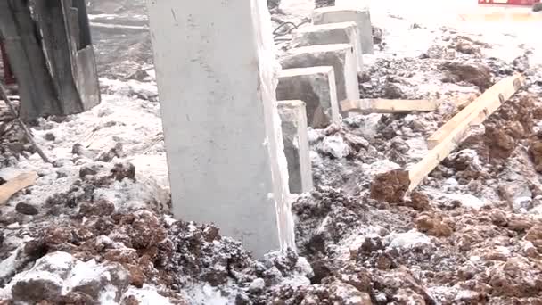
[[[349,44],[354,47],[357,71],[363,69],[363,51],[356,22],[327,23],[302,27],[292,32],[294,47],[309,45]]]

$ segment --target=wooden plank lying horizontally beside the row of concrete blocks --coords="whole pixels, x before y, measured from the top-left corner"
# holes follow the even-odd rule
[[[414,111],[436,111],[438,103],[428,100],[361,99],[341,102],[343,112],[404,113]]]

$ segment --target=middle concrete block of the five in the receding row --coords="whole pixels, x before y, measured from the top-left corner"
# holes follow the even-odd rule
[[[359,99],[356,57],[351,45],[312,45],[289,50],[281,60],[283,69],[332,66],[339,103]]]

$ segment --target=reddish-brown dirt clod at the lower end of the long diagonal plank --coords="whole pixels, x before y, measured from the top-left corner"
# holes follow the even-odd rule
[[[409,185],[408,171],[391,170],[374,177],[371,183],[371,198],[384,202],[400,202]]]

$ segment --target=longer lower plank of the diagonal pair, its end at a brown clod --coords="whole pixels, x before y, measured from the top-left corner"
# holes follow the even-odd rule
[[[488,118],[502,103],[505,103],[524,85],[525,78],[521,74],[504,78],[495,86],[486,90],[463,111],[457,113],[452,120],[448,121],[448,123],[452,123],[447,123],[446,128],[443,126],[445,129],[441,135],[444,135],[444,137],[439,144],[427,152],[422,161],[419,161],[412,169],[408,170],[410,178],[408,190],[415,189],[423,181],[424,177],[427,177],[441,161],[448,157],[450,152],[456,149],[457,141],[461,139],[464,131],[471,126],[473,120],[477,120],[480,116],[483,116],[484,120]]]

